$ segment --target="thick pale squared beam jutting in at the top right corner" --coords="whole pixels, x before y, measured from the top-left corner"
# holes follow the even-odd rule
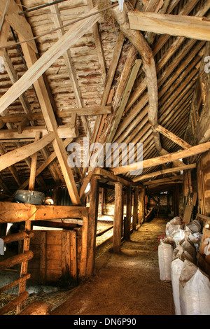
[[[131,29],[210,41],[210,22],[204,18],[137,11],[130,11],[128,18]]]

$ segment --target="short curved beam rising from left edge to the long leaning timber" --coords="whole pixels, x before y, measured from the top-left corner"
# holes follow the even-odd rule
[[[22,148],[17,148],[4,155],[1,155],[0,171],[38,152],[39,150],[41,150],[41,148],[44,148],[45,146],[50,144],[53,139],[55,139],[54,132],[49,132],[47,135],[45,135],[38,141],[34,141],[34,143],[22,146]]]

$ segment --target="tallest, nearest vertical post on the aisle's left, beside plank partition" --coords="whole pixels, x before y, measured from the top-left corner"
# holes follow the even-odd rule
[[[87,234],[87,267],[86,276],[94,274],[97,218],[99,211],[99,176],[92,176],[90,183],[90,211]]]

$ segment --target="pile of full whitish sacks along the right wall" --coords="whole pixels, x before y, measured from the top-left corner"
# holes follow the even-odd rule
[[[201,239],[200,221],[185,228],[181,218],[175,217],[167,223],[158,246],[160,280],[172,282],[176,315],[210,315],[209,276],[196,266]]]

